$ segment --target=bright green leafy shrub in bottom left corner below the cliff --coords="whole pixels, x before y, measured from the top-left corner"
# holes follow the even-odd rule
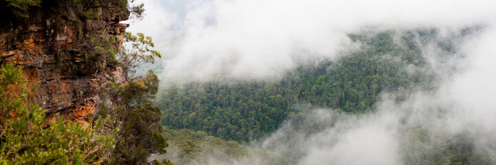
[[[57,116],[45,123],[43,109],[24,104],[36,89],[28,87],[15,64],[0,66],[0,164],[92,164],[115,146],[118,129],[107,116],[90,122],[93,126],[67,122]],[[48,124],[48,125],[47,125]]]

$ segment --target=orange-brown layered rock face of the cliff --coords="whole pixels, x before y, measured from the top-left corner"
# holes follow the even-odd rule
[[[16,62],[30,85],[40,83],[28,103],[45,109],[48,120],[56,113],[67,120],[91,120],[102,102],[105,80],[124,78],[122,69],[74,48],[83,35],[104,32],[116,36],[115,47],[120,49],[121,33],[128,26],[120,21],[126,20],[129,12],[107,8],[98,15],[96,20],[75,20],[63,12],[42,10],[25,23],[0,25],[0,63]]]

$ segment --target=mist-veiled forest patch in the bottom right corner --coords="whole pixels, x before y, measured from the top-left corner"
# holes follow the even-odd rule
[[[406,133],[400,140],[405,164],[493,164],[490,153],[475,145],[470,133],[446,136],[429,125]]]

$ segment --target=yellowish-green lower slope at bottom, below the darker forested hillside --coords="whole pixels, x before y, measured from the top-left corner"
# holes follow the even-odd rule
[[[155,157],[171,159],[176,164],[294,164],[292,157],[277,151],[252,148],[222,140],[191,129],[168,129],[164,126],[169,152]]]

